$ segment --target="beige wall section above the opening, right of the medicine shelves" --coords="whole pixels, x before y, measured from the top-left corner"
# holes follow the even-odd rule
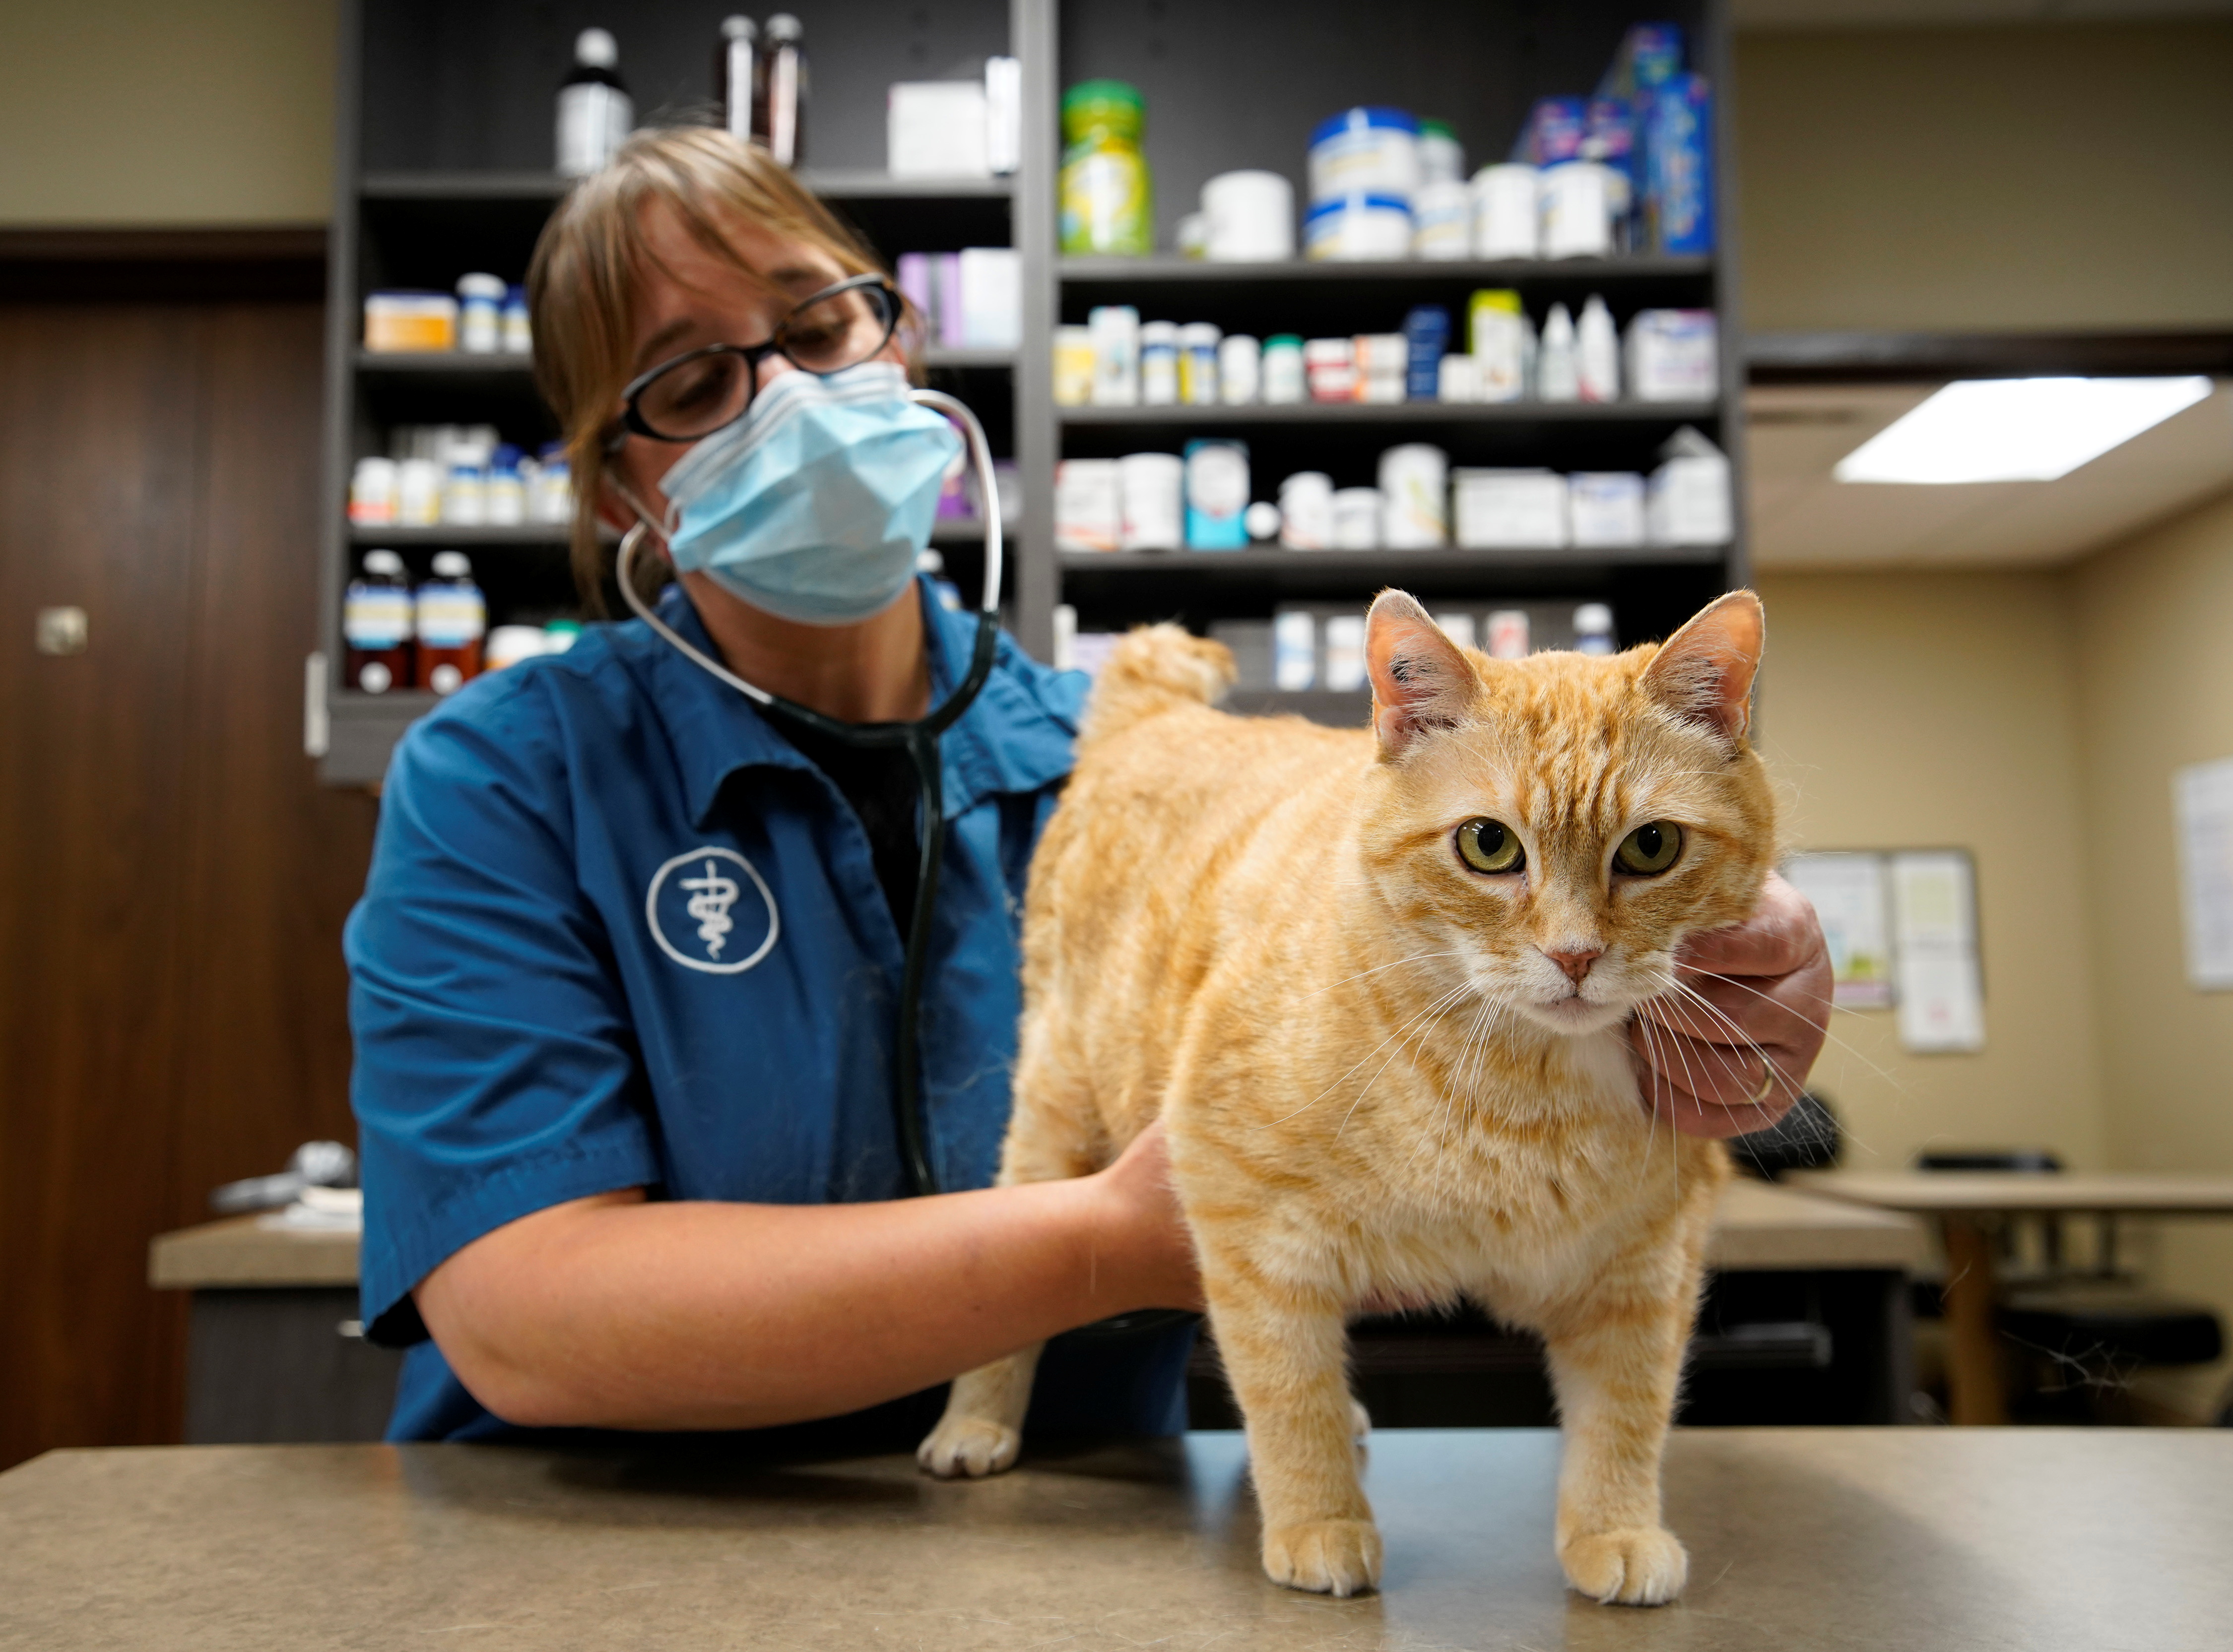
[[[2233,321],[2233,22],[1737,45],[1753,328]]]

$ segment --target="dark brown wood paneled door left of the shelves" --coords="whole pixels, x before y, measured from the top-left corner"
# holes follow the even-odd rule
[[[0,301],[0,1467],[176,1440],[147,1239],[353,1139],[310,301]],[[40,609],[85,647],[36,645]]]

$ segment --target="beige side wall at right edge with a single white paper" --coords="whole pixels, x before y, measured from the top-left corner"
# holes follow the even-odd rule
[[[2233,993],[2186,985],[2170,806],[2177,768],[2233,757],[2233,496],[2070,585],[2110,1161],[2233,1170]],[[2233,1326],[2233,1226],[2166,1223],[2162,1279]],[[2204,1400],[2217,1375],[2179,1386]]]

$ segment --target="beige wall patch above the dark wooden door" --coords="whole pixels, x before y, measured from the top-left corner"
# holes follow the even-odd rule
[[[0,223],[324,223],[335,0],[60,0],[0,20]]]

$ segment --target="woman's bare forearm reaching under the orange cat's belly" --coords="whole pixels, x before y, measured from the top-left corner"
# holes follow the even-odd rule
[[[458,1380],[509,1422],[770,1427],[1190,1302],[1175,1212],[1128,1192],[1110,1172],[869,1206],[605,1194],[476,1239],[415,1295]]]

